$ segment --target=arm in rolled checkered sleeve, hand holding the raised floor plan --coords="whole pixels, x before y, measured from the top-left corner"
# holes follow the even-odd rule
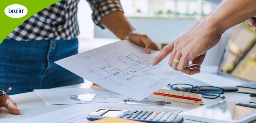
[[[119,39],[145,47],[145,52],[160,50],[145,34],[136,32],[123,14],[119,0],[86,0],[92,9],[93,22],[102,29],[108,28]]]

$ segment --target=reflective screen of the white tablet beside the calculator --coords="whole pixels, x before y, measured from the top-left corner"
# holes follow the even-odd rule
[[[194,111],[192,112],[192,115],[238,120],[253,113],[256,113],[255,105],[247,105],[234,102],[222,102],[216,105],[206,107],[204,109]]]

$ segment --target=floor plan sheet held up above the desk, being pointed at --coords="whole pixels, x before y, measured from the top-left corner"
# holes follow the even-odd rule
[[[168,65],[170,54],[158,65],[150,65],[159,52],[152,50],[147,54],[143,47],[123,40],[55,63],[99,86],[140,101],[182,75]]]

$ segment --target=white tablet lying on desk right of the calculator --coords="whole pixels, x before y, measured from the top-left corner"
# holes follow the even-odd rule
[[[182,116],[210,123],[248,123],[256,119],[256,104],[220,101],[184,112]]]

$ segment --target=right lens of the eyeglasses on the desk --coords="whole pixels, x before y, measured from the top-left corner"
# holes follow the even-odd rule
[[[199,89],[199,93],[202,94],[203,97],[207,98],[215,98],[218,97],[221,93],[222,89],[216,88],[216,87],[201,87]]]

